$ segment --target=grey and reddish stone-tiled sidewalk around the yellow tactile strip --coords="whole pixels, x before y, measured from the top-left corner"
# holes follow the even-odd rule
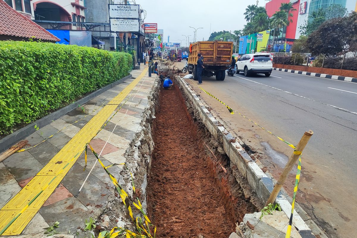
[[[144,70],[146,73],[141,75]],[[147,67],[145,66],[141,70],[133,70],[131,74],[134,78],[138,76],[142,78],[117,107],[117,109],[121,107],[119,112],[90,142],[98,154],[102,151],[101,161],[105,166],[115,164],[108,170],[117,178],[119,184],[124,182],[119,176],[123,165],[119,164],[125,162],[124,153],[129,148],[136,132],[141,130],[140,122],[156,78],[147,77]],[[15,153],[0,163],[0,207],[7,204],[24,188],[81,128],[91,121],[112,98],[120,95],[133,80],[129,79],[120,83],[27,137],[26,140],[29,141],[30,146],[25,148],[40,144],[24,152]],[[111,115],[113,114],[114,112]],[[72,123],[73,125],[71,125]],[[91,123],[95,124],[93,121]],[[42,142],[51,135],[54,136]],[[108,143],[104,147],[107,140]],[[74,197],[96,161],[90,150],[87,153],[87,166],[85,167],[83,152],[21,235],[16,237],[34,237],[35,235],[35,237],[46,237],[43,228],[52,226],[56,221],[60,222],[60,227],[56,228],[60,234],[70,234],[70,237],[73,235],[76,237],[85,236],[85,232],[83,232],[85,220],[103,214],[109,198],[116,199],[113,196],[115,187],[99,163],[93,168],[79,196]],[[23,222],[26,223],[25,220]],[[3,228],[0,222],[0,230]],[[107,229],[111,228],[107,227]],[[4,235],[15,231],[6,232]]]

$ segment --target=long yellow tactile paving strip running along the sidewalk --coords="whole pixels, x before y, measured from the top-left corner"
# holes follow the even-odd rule
[[[85,146],[131,90],[145,76],[147,68],[104,106],[77,134],[0,210],[0,235],[19,235],[60,184]]]

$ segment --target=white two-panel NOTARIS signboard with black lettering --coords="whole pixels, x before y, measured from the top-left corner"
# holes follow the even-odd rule
[[[139,32],[139,5],[108,4],[112,32]]]

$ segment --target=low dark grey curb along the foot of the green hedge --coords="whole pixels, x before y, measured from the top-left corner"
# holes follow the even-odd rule
[[[15,145],[17,142],[24,140],[27,136],[30,136],[32,133],[34,133],[36,131],[36,129],[34,128],[35,125],[37,125],[38,127],[44,127],[49,125],[52,121],[57,120],[58,118],[66,115],[67,113],[73,111],[74,109],[76,109],[78,107],[78,105],[83,105],[86,102],[88,102],[89,100],[91,100],[92,98],[98,96],[99,94],[107,91],[108,89],[118,85],[119,83],[124,82],[125,80],[128,80],[132,77],[132,75],[128,75],[120,80],[117,80],[115,82],[112,82],[92,93],[90,93],[89,95],[81,98],[78,101],[75,101],[74,103],[71,103],[70,105],[67,105],[65,107],[62,107],[61,109],[52,112],[49,115],[46,115],[44,117],[42,117],[41,119],[25,126],[22,127],[21,129],[11,133],[8,136],[5,136],[4,138],[2,138],[0,140],[0,153],[7,150],[8,148],[10,148],[11,146]]]

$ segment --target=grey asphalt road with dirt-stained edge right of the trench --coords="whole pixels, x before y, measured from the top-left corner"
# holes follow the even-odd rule
[[[179,65],[178,65],[179,66]],[[191,85],[195,85],[188,80]],[[329,237],[355,237],[357,226],[357,83],[273,71],[270,77],[203,77],[202,88],[290,143],[314,131],[303,152],[297,201]],[[195,86],[275,176],[292,150]],[[285,188],[292,193],[294,175]]]

